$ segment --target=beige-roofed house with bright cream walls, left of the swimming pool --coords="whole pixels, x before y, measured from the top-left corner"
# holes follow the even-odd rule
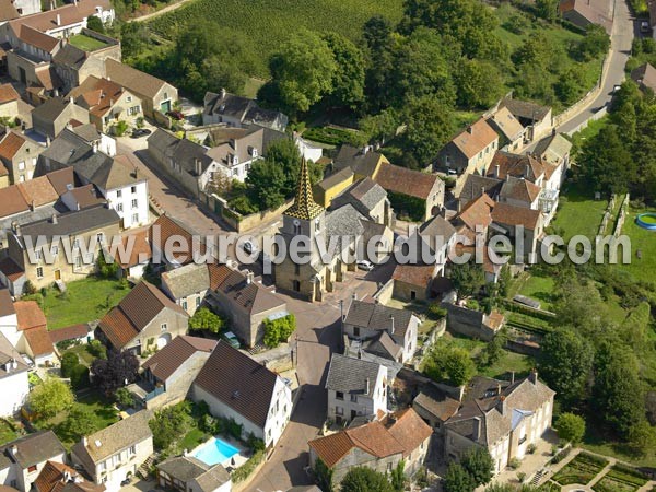
[[[153,434],[148,425],[151,418],[149,410],[141,410],[82,437],[71,449],[73,464],[82,466],[94,483],[117,492],[153,454]]]

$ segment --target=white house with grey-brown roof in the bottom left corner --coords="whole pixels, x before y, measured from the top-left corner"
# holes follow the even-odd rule
[[[66,461],[66,449],[52,431],[19,437],[0,446],[0,483],[30,492],[48,461]]]

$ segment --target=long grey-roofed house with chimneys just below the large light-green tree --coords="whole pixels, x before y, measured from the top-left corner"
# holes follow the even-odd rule
[[[284,131],[288,120],[282,113],[261,108],[256,101],[230,94],[224,89],[220,93],[208,92],[204,95],[203,125],[226,124],[241,128],[255,124],[276,131]]]

